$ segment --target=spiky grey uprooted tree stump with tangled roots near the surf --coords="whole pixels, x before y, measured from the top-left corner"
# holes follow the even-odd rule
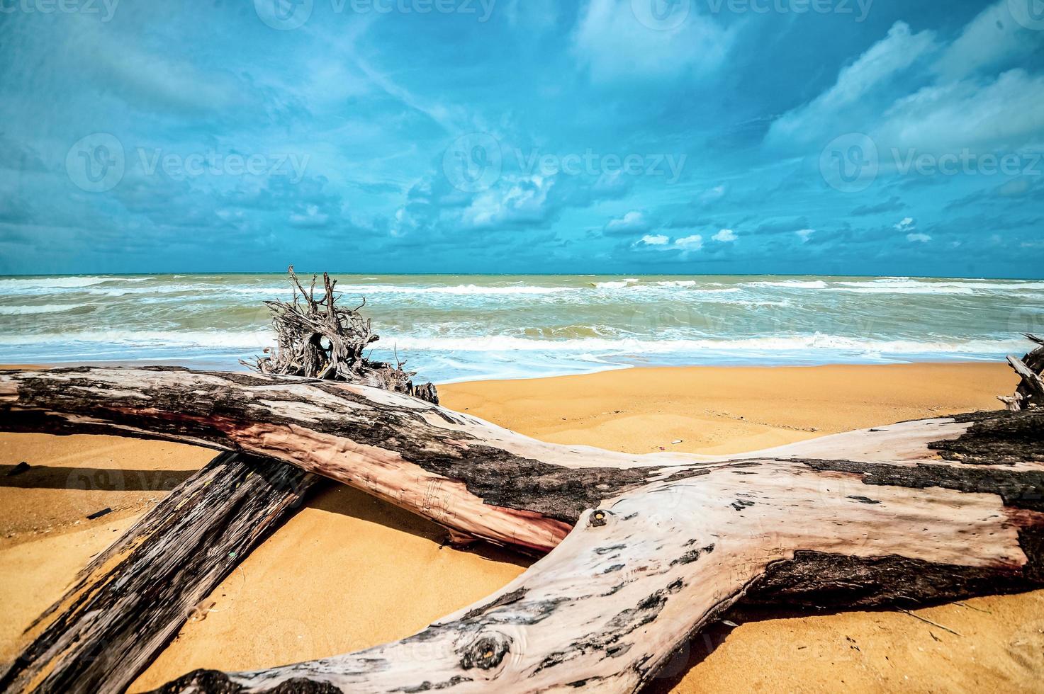
[[[243,361],[243,365],[261,374],[362,383],[438,403],[432,384],[413,385],[410,378],[417,374],[403,370],[405,361],[392,365],[366,357],[365,351],[380,338],[374,333],[370,318],[359,313],[366,305],[365,298],[354,309],[337,306],[338,295],[334,293],[337,281],[329,274],[323,273],[323,295],[315,298],[316,276],[312,276],[306,290],[292,265],[289,273],[293,300],[265,302],[276,329],[275,353],[257,357],[253,362]]]

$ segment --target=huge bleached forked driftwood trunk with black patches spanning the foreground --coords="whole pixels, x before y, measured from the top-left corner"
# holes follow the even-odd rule
[[[553,548],[403,641],[164,692],[632,692],[740,599],[912,606],[1044,584],[1036,408],[717,457],[555,446],[365,386],[171,368],[0,373],[0,414],[270,456],[458,536]]]

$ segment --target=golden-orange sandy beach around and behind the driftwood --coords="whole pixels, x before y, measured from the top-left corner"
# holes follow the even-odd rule
[[[1003,364],[633,368],[440,388],[443,403],[554,442],[737,453],[903,420],[996,409]],[[680,442],[674,442],[680,441]],[[75,571],[209,450],[110,436],[0,434],[0,660]],[[6,473],[25,461],[30,469]],[[88,520],[111,508],[112,512]],[[444,531],[327,484],[200,605],[138,678],[252,669],[403,638],[528,560],[443,547]],[[1044,591],[914,613],[748,615],[690,644],[651,687],[675,692],[1040,691]]]

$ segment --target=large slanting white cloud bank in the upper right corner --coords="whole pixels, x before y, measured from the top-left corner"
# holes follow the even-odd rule
[[[915,33],[897,22],[841,69],[830,89],[777,119],[766,145],[803,149],[863,133],[877,145],[882,167],[907,161],[911,150],[918,155],[1034,146],[1044,129],[1044,76],[1021,67],[981,74],[1018,65],[1039,45],[1004,3],[979,14],[949,45],[938,43],[932,31]],[[916,87],[895,92],[904,83]]]

